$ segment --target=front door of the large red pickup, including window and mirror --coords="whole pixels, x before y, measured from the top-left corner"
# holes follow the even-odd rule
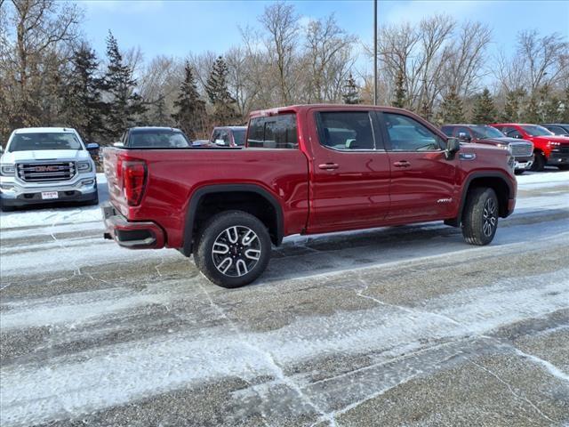
[[[450,218],[459,156],[445,158],[445,140],[413,117],[380,113],[391,167],[389,220]]]

